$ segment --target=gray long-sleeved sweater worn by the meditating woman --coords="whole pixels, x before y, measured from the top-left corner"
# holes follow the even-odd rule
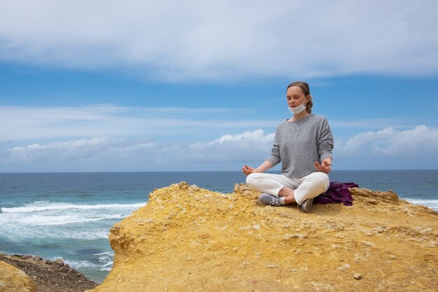
[[[281,173],[291,179],[316,172],[314,163],[332,157],[333,136],[327,119],[310,115],[294,122],[283,121],[275,132],[272,166],[282,162]]]

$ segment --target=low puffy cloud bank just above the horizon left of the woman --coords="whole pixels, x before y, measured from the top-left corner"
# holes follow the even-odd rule
[[[236,135],[224,135],[207,143],[155,144],[140,138],[93,137],[50,144],[16,146],[0,154],[3,171],[8,165],[92,165],[91,169],[102,170],[99,165],[112,165],[117,169],[122,162],[132,166],[144,163],[145,169],[174,164],[200,164],[222,162],[254,162],[269,155],[274,134],[262,130]],[[261,162],[261,161],[260,161]],[[94,165],[93,165],[94,164]],[[108,169],[106,169],[108,170]]]

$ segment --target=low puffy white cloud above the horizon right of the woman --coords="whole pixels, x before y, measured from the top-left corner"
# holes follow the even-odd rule
[[[362,132],[336,146],[341,157],[430,160],[438,158],[438,130],[419,125],[411,130],[388,127]],[[432,164],[431,164],[432,165]]]

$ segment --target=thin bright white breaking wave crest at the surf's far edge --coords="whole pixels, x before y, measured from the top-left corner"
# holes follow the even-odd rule
[[[62,204],[50,202],[34,202],[25,204],[24,207],[1,208],[3,213],[27,213],[35,211],[55,211],[55,210],[92,210],[92,209],[137,209],[143,207],[146,203],[136,204]]]

